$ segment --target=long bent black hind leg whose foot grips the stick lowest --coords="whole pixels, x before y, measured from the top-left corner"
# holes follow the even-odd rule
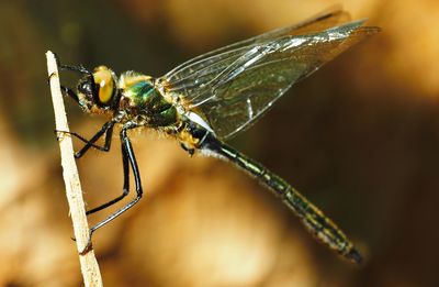
[[[103,225],[105,225],[106,223],[109,223],[113,219],[117,218],[122,213],[124,213],[126,210],[128,210],[130,208],[135,206],[142,198],[143,189],[142,189],[140,174],[138,172],[138,166],[137,166],[136,157],[134,155],[133,146],[131,144],[131,141],[130,141],[128,136],[126,135],[126,128],[122,129],[122,131],[121,131],[121,143],[122,143],[122,156],[124,158],[123,161],[124,161],[125,164],[127,162],[130,162],[131,168],[133,169],[134,183],[136,185],[136,194],[137,194],[137,196],[136,196],[135,199],[130,201],[126,206],[124,206],[123,208],[121,208],[120,210],[117,210],[116,212],[114,212],[113,214],[111,214],[110,217],[108,217],[106,219],[102,220],[101,222],[99,222],[98,224],[95,224],[94,227],[92,227],[90,229],[89,242],[88,242],[86,249],[81,252],[81,254],[85,254],[88,251],[90,251],[91,236],[94,233],[94,231],[97,231],[98,229],[102,228]],[[130,183],[130,173],[127,172],[127,169],[128,168],[124,167],[124,188],[126,188],[126,189],[128,189],[128,183]],[[125,192],[125,190],[124,190],[124,192]],[[128,192],[128,191],[126,191],[126,192]]]

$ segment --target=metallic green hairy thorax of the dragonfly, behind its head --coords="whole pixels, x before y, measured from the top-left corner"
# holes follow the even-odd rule
[[[178,122],[176,107],[161,96],[148,77],[126,75],[122,81],[120,110],[126,111],[130,120],[149,126],[169,126]]]

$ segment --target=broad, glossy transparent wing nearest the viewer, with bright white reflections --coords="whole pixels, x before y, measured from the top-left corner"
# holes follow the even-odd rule
[[[216,136],[228,139],[249,128],[293,84],[379,31],[362,24],[259,43],[188,95],[188,107],[204,117]]]

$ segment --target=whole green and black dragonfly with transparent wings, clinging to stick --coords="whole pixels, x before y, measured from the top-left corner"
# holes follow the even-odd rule
[[[81,65],[61,65],[58,59],[60,70],[81,75],[76,89],[61,86],[64,93],[86,113],[108,115],[90,140],[68,132],[85,143],[75,157],[82,157],[91,147],[109,152],[114,128],[119,128],[123,192],[87,214],[128,195],[130,170],[135,183],[136,197],[90,229],[87,249],[91,249],[95,230],[140,200],[140,172],[128,131],[149,128],[177,140],[190,155],[215,156],[246,170],[278,196],[318,241],[342,257],[361,263],[360,252],[333,220],[280,176],[225,141],[251,126],[293,84],[379,31],[365,26],[364,20],[351,21],[346,11],[334,9],[200,55],[157,78],[133,70],[116,76],[106,66],[90,70]]]

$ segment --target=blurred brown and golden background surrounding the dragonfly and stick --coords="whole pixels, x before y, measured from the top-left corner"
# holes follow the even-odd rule
[[[144,131],[133,142],[146,196],[93,238],[104,285],[439,286],[436,0],[1,1],[0,286],[82,285],[47,49],[65,64],[160,76],[335,3],[383,32],[296,84],[230,144],[320,207],[365,263],[317,243],[240,170]],[[71,100],[67,110],[86,137],[104,122]],[[111,153],[92,151],[78,165],[89,207],[121,194],[117,137]]]

